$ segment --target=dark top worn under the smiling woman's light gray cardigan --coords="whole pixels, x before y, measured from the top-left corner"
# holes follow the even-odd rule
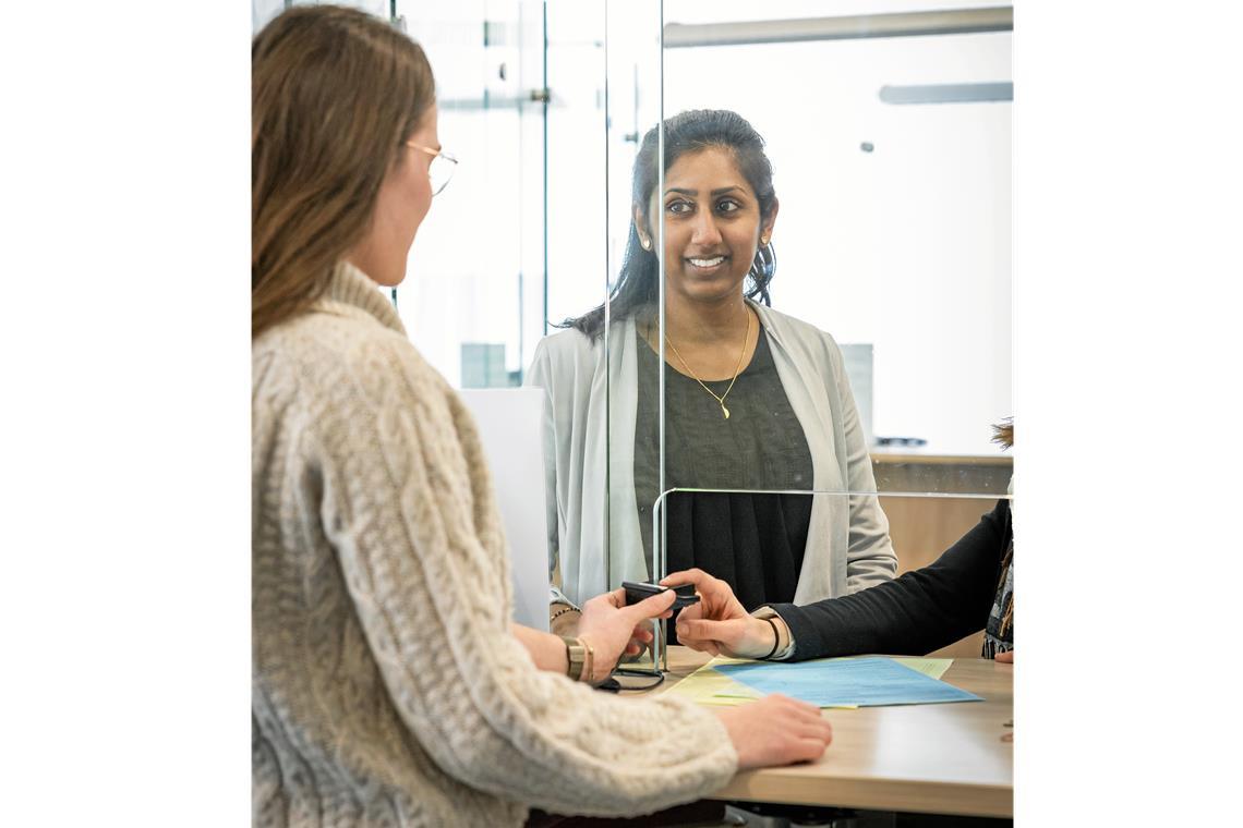
[[[645,557],[650,561],[651,508],[660,494],[660,358],[641,335],[636,336],[634,489]],[[720,396],[730,381],[707,386]],[[751,362],[725,400],[728,420],[699,382],[667,365],[665,394],[667,488],[812,489],[807,437],[762,330]],[[670,495],[667,571],[697,566],[728,582],[748,610],[792,601],[810,515],[812,498],[802,494]]]

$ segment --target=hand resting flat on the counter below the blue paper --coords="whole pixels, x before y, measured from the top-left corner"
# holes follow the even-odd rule
[[[716,711],[738,754],[738,770],[813,762],[833,741],[820,709],[779,694]]]

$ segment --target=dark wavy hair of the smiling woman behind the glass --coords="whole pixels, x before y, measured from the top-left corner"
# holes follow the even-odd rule
[[[656,189],[656,127],[648,130],[634,160],[634,179],[631,199],[635,209],[648,218],[648,205],[651,191]],[[728,109],[691,109],[665,120],[665,171],[679,158],[687,153],[697,153],[710,146],[727,149],[733,154],[738,171],[759,201],[759,220],[767,221],[776,210],[777,194],[773,190],[773,168],[764,155],[764,139],[736,112]],[[655,236],[655,233],[653,233]],[[609,297],[609,312],[613,319],[625,319],[639,310],[656,304],[660,295],[658,278],[660,259],[656,251],[646,251],[639,243],[639,230],[630,221],[630,235],[626,238],[625,253],[622,258],[622,272]],[[772,243],[756,252],[751,264],[747,283],[743,288],[748,299],[759,298],[767,305],[772,304],[768,295],[768,283],[777,272],[777,256]],[[604,333],[604,304],[577,319],[567,319],[561,328],[576,328],[592,339]]]

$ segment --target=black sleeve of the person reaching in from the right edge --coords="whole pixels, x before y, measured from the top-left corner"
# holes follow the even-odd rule
[[[922,655],[983,629],[1011,539],[1009,502],[927,566],[854,595],[798,607],[773,603],[794,638],[792,660]]]

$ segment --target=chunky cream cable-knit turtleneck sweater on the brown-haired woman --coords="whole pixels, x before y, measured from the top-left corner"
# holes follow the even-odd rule
[[[252,350],[256,826],[521,826],[707,794],[710,713],[536,669],[475,427],[342,266]]]

